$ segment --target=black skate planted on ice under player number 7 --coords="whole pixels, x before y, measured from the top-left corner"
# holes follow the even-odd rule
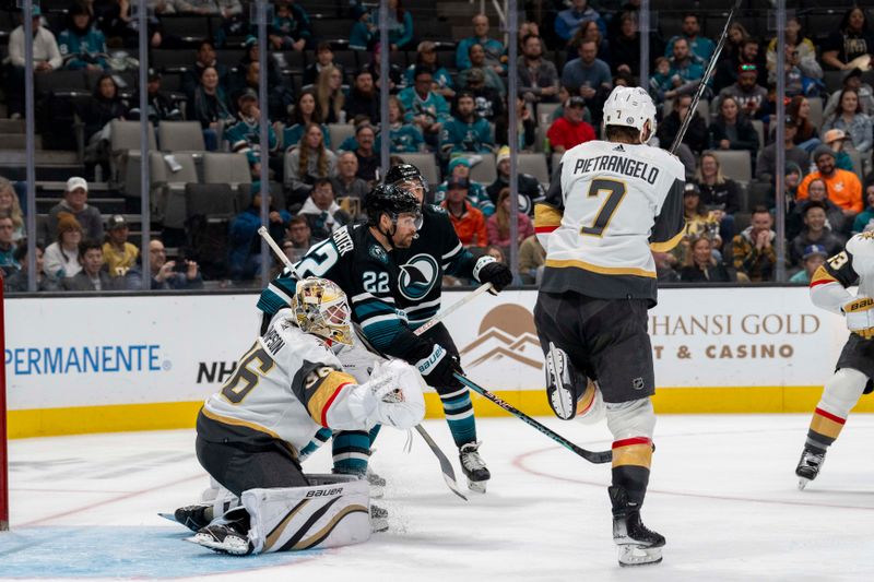
[[[621,487],[609,487],[613,503],[613,543],[619,548],[619,566],[649,566],[662,561],[664,536],[640,521],[640,506],[628,501]]]

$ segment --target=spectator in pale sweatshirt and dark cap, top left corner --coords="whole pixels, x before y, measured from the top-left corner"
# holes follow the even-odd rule
[[[43,26],[42,11],[33,7],[33,56],[34,72],[37,74],[57,71],[63,64],[58,43],[51,31]],[[24,115],[24,25],[17,26],[9,35],[9,67],[7,69],[7,110],[12,119]]]

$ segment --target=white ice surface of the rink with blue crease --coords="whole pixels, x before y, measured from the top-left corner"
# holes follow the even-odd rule
[[[543,419],[589,449],[603,426]],[[208,478],[193,431],[10,442],[12,531],[2,579],[214,580],[872,580],[874,416],[851,416],[823,474],[793,474],[806,415],[663,415],[645,522],[664,534],[658,566],[621,569],[609,465],[592,465],[515,418],[479,420],[493,479],[469,502],[444,484],[415,436],[383,429],[373,459],[389,531],[330,550],[234,558],[187,544],[156,515],[196,501]],[[442,420],[425,426],[453,453]],[[450,456],[458,468],[454,454]],[[327,448],[306,464],[329,468]]]

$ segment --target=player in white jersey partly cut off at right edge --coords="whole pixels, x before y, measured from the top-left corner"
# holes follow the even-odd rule
[[[858,285],[853,296],[847,287]],[[795,468],[804,489],[823,470],[826,451],[840,435],[862,394],[874,391],[874,233],[860,233],[811,277],[816,307],[845,317],[850,337],[823,387],[813,413],[801,460]]]

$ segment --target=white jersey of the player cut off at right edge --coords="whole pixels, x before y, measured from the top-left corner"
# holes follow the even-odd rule
[[[832,313],[855,299],[847,287],[859,285],[859,297],[874,297],[874,233],[850,238],[843,250],[828,259],[811,277],[811,300]]]

